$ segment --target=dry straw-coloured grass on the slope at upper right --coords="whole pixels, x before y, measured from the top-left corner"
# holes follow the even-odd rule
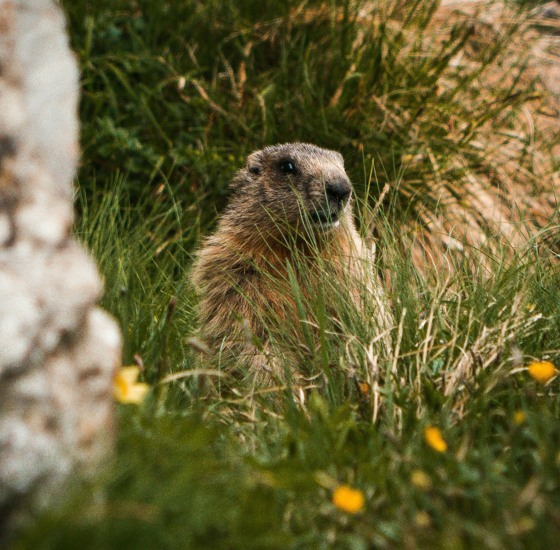
[[[438,81],[437,93],[445,96],[460,89],[473,123],[448,121],[446,139],[468,142],[468,147],[447,162],[438,162],[426,148],[433,173],[428,192],[421,196],[428,204],[417,206],[414,231],[409,233],[417,266],[436,261],[443,267],[441,254],[449,250],[483,248],[496,253],[523,246],[555,220],[560,126],[554,90],[538,57],[543,37],[535,30],[535,20],[534,13],[520,14],[515,4],[504,2],[450,2],[436,12],[438,41],[459,22],[472,26],[465,47]],[[496,56],[483,70],[481,52]],[[556,63],[560,66],[560,58]],[[468,79],[468,86],[458,86],[461,79]],[[487,116],[500,90],[509,91],[505,104],[511,105]],[[475,166],[472,156],[477,157]],[[420,154],[407,166],[423,161]],[[557,246],[555,236],[547,237],[548,246]]]

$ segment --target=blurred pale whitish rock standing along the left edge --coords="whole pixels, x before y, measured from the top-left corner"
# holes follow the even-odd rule
[[[70,238],[79,74],[51,0],[0,0],[0,515],[112,442],[120,334]]]

